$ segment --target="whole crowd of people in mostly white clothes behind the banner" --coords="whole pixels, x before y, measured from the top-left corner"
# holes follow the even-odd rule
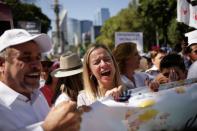
[[[113,50],[96,43],[83,60],[69,51],[53,61],[43,55],[52,48],[46,34],[5,31],[0,37],[0,130],[77,131],[81,115],[100,98],[118,101],[125,90],[156,92],[160,84],[195,78],[197,31],[186,36],[182,52],[157,49],[148,58],[133,42]]]

